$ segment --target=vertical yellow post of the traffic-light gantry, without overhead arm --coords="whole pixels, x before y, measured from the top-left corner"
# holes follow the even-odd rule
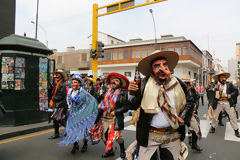
[[[98,39],[98,4],[93,4],[93,27],[92,27],[92,49],[97,49],[97,39]],[[96,52],[97,53],[97,52]],[[98,55],[97,55],[98,56]],[[98,58],[92,58],[92,75],[93,82],[97,80],[98,73]]]

